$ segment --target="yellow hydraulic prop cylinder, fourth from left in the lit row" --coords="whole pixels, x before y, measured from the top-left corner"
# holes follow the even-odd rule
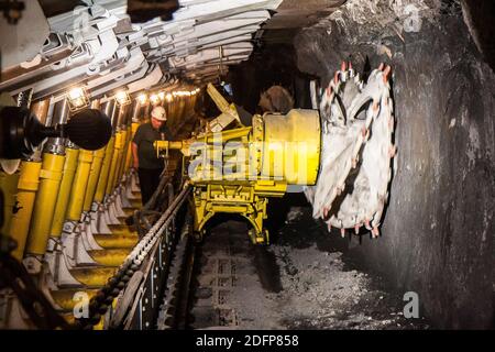
[[[92,152],[81,150],[74,176],[73,189],[67,207],[67,220],[79,221],[85,202],[86,188],[88,186],[89,172],[91,169]]]

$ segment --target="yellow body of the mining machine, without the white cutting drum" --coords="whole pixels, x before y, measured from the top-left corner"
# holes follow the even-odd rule
[[[314,185],[317,180],[321,150],[318,111],[255,114],[252,125],[244,127],[237,107],[213,85],[209,84],[207,91],[221,111],[208,123],[207,132],[186,141],[157,141],[155,147],[158,155],[168,150],[184,154],[184,170],[194,187],[197,237],[202,237],[215,215],[237,213],[252,224],[251,241],[267,244],[263,220],[268,197],[284,196],[289,185]]]

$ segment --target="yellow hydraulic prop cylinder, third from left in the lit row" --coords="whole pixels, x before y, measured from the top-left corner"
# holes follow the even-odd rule
[[[77,168],[77,158],[79,150],[67,147],[65,150],[64,174],[62,176],[61,189],[55,205],[55,215],[53,216],[52,230],[50,234],[54,238],[59,238],[64,227],[65,213],[67,211],[67,204],[70,197],[70,189],[73,188],[74,174]]]

